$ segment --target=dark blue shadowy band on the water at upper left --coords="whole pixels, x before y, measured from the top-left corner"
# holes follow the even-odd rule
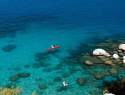
[[[28,23],[52,22],[57,19],[58,16],[52,15],[0,17],[0,38],[15,37],[17,31],[25,30]],[[24,33],[25,31],[22,32]]]

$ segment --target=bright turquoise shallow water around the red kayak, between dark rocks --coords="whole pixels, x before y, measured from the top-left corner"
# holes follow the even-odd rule
[[[82,69],[79,64],[75,66],[77,72],[69,73],[72,70],[72,65],[71,67],[68,64],[63,65],[62,60],[69,55],[69,51],[78,49],[80,43],[91,45],[94,41],[97,42],[103,39],[120,39],[117,35],[124,34],[124,32],[109,32],[113,30],[124,31],[123,26],[112,25],[110,27],[105,28],[101,25],[84,27],[63,25],[62,27],[62,25],[51,25],[51,23],[27,23],[25,29],[17,31],[14,37],[7,36],[0,40],[1,86],[11,83],[9,79],[12,75],[19,72],[28,72],[31,74],[30,77],[16,82],[23,89],[23,95],[31,95],[33,91],[39,90],[38,85],[40,83],[45,83],[48,86],[47,89],[40,90],[42,93],[40,95],[82,95],[83,93],[84,95],[92,95],[93,91],[98,90],[100,81],[93,79],[84,86],[78,86],[76,83],[77,77],[82,76],[90,79],[92,76],[88,71]],[[16,44],[17,47],[11,52],[4,52],[2,48],[8,44]],[[46,52],[51,44],[59,44],[61,51],[49,55],[45,61],[43,59],[44,64],[48,66],[32,67],[36,63],[35,54]],[[59,66],[54,69],[58,64],[60,65],[60,62],[62,64],[61,68]],[[63,78],[60,82],[55,82],[54,78],[58,76]],[[71,88],[58,92],[57,90],[62,85],[62,81],[67,81]],[[99,95],[101,94],[102,92]]]

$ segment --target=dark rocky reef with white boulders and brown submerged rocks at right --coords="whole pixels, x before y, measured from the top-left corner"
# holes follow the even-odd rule
[[[63,72],[64,78],[70,77],[71,74],[76,73],[75,69],[79,65],[82,69],[79,69],[78,71],[84,72],[83,74],[87,73],[90,78],[86,78],[84,77],[84,75],[83,77],[78,77],[76,78],[76,84],[78,84],[79,86],[84,86],[93,81],[98,83],[96,85],[98,85],[98,91],[100,94],[98,94],[97,91],[97,93],[92,92],[90,95],[102,95],[101,91],[103,91],[104,89],[108,89],[109,93],[113,93],[115,95],[125,95],[125,93],[123,92],[125,89],[125,81],[123,82],[125,77],[125,51],[123,50],[124,44],[122,44],[122,50],[120,49],[121,47],[119,48],[121,43],[123,43],[124,41],[124,39],[109,39],[92,43],[91,45],[80,44],[80,46],[76,49],[70,50],[70,55],[67,57],[67,59],[64,59],[63,62],[63,64],[67,65],[69,69],[69,72],[66,72],[66,74],[64,74]],[[98,48],[103,49],[101,50],[103,54],[94,55],[93,51]],[[70,73],[71,71],[73,71],[74,73]],[[122,76],[118,78],[120,75]],[[114,80],[109,77],[113,77]],[[107,78],[109,78],[109,80],[111,81],[110,83],[105,80]],[[62,90],[65,89],[58,89],[58,91]]]

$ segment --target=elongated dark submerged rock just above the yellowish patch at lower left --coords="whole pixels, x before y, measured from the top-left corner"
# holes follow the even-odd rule
[[[10,81],[15,82],[15,81],[18,81],[19,79],[28,78],[28,77],[30,77],[30,73],[27,73],[27,72],[17,73],[10,77]]]

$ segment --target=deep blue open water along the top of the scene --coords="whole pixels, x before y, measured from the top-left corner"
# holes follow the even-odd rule
[[[59,16],[65,22],[114,23],[125,21],[124,1],[120,0],[1,0],[1,16],[49,15]]]

